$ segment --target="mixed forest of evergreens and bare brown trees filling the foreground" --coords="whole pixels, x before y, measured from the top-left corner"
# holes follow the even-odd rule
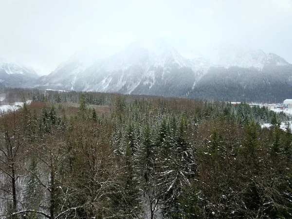
[[[22,94],[34,102],[0,117],[2,218],[292,217],[284,113],[178,98]],[[65,102],[78,102],[76,113]]]

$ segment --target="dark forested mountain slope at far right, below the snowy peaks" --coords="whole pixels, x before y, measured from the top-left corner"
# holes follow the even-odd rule
[[[219,101],[283,102],[292,96],[292,66],[210,68],[188,97]]]

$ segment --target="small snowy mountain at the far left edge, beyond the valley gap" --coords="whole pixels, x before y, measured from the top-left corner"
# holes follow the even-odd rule
[[[0,82],[6,87],[31,87],[37,78],[32,68],[0,58]]]

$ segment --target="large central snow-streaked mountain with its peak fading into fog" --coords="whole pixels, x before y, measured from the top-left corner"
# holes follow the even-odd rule
[[[78,91],[152,93],[162,81],[177,84],[186,71],[193,84],[203,59],[188,60],[171,45],[158,40],[133,42],[121,52],[97,61],[69,60],[38,80],[38,86]],[[205,69],[205,66],[204,66]],[[180,73],[180,75],[178,75]],[[184,79],[185,80],[185,79]],[[192,85],[190,85],[191,87]],[[139,91],[143,88],[143,92]]]

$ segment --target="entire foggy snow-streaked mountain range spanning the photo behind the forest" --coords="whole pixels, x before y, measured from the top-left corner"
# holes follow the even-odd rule
[[[52,73],[39,78],[34,69],[1,59],[0,83],[6,87],[212,101],[267,102],[271,94],[278,101],[292,96],[292,65],[279,55],[259,49],[222,44],[211,58],[189,47],[193,53],[186,57],[162,37],[140,38],[106,57],[92,49],[74,53]]]

